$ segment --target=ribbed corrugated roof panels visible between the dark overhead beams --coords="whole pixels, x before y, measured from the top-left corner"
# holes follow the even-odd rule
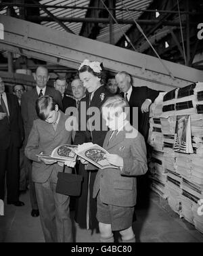
[[[47,10],[51,12],[56,18],[57,17],[67,17],[67,18],[85,18],[87,9],[63,9],[63,8],[54,8],[54,5],[61,6],[73,6],[73,7],[89,7],[90,0],[41,0],[39,3],[41,5],[53,5],[53,8],[49,7]],[[130,20],[128,12],[125,10],[125,7],[122,3],[129,9],[147,9],[152,0],[116,0],[116,8],[122,8],[123,10],[116,10],[116,18],[118,19],[127,19]],[[14,7],[16,10],[16,14],[19,14],[19,8]],[[139,16],[143,12],[131,12],[135,19],[139,18]],[[3,8],[0,14],[6,15],[6,7]],[[40,16],[47,16],[47,14],[40,9]],[[48,26],[49,28],[54,28],[57,30],[64,30],[60,24],[57,22],[41,22],[44,26]],[[81,27],[83,25],[82,22],[64,22],[64,24],[72,30],[73,33],[79,35],[81,32]],[[114,43],[118,42],[120,37],[122,37],[122,32],[120,31],[120,27],[122,30],[127,32],[129,28],[131,28],[132,24],[114,24]],[[110,25],[103,24],[103,28],[101,28],[99,35],[97,36],[98,41],[103,41],[105,43],[110,42]]]

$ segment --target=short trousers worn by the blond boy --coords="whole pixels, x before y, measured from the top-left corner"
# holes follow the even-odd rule
[[[112,231],[126,230],[133,223],[134,207],[117,207],[106,205],[97,195],[97,220],[101,223],[111,224]]]

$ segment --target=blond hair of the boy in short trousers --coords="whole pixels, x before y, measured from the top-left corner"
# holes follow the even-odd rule
[[[128,102],[119,95],[108,98],[101,106],[101,112],[103,112],[104,108],[108,109],[110,112],[115,112],[118,116],[120,116],[122,112],[125,112],[127,115],[129,114]]]

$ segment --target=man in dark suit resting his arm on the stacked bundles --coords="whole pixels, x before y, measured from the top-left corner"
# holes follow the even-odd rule
[[[135,115],[133,116],[133,107],[138,108],[138,131],[145,138],[145,142],[148,140],[149,131],[149,110],[150,105],[158,97],[159,91],[150,89],[146,86],[137,87],[133,86],[133,79],[131,75],[125,71],[118,72],[116,74],[116,83],[120,91],[123,93],[125,99],[129,102],[131,108],[130,111],[130,123],[131,125],[137,125],[135,123]],[[135,127],[136,128],[136,127]]]

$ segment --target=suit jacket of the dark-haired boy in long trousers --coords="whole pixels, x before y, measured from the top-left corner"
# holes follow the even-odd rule
[[[25,154],[32,160],[32,179],[33,182],[44,183],[49,179],[52,172],[55,173],[55,183],[57,182],[57,173],[62,171],[58,163],[45,165],[38,161],[36,154],[51,154],[52,150],[62,144],[71,144],[71,131],[65,128],[65,122],[68,117],[60,111],[60,120],[56,130],[53,125],[37,119],[33,122],[32,130],[28,137],[28,143],[25,148]],[[71,169],[66,167],[66,173],[71,173]]]

